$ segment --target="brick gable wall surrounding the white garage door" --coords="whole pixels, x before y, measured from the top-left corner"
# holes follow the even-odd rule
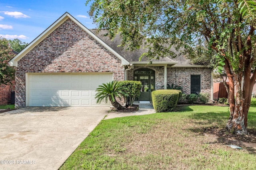
[[[121,60],[70,19],[18,62],[16,107],[26,106],[26,73],[32,72],[112,72],[114,80],[124,80]]]

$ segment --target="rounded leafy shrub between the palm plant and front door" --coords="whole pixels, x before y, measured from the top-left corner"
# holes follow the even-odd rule
[[[120,83],[121,83],[121,86],[123,86],[125,89],[123,92],[128,95],[126,97],[126,103],[128,104],[127,98],[129,98],[130,99],[129,105],[131,106],[135,98],[140,96],[140,89],[142,87],[141,82],[126,80],[126,81],[121,81]]]

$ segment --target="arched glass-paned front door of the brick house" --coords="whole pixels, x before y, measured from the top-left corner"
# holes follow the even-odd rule
[[[134,71],[134,80],[140,81],[142,88],[138,100],[151,101],[151,92],[155,90],[155,72],[150,69]]]

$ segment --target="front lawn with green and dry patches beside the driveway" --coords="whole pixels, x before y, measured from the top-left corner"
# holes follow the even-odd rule
[[[256,100],[248,128],[256,127]],[[228,107],[185,106],[176,112],[107,119],[90,133],[60,170],[256,169],[256,150],[235,150],[204,136],[224,127]]]

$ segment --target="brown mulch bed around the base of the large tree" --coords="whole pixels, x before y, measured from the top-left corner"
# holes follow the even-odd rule
[[[205,135],[214,137],[219,142],[233,145],[245,145],[246,147],[256,147],[256,130],[247,129],[248,135],[235,135],[228,133],[226,129],[208,128],[204,130]]]

